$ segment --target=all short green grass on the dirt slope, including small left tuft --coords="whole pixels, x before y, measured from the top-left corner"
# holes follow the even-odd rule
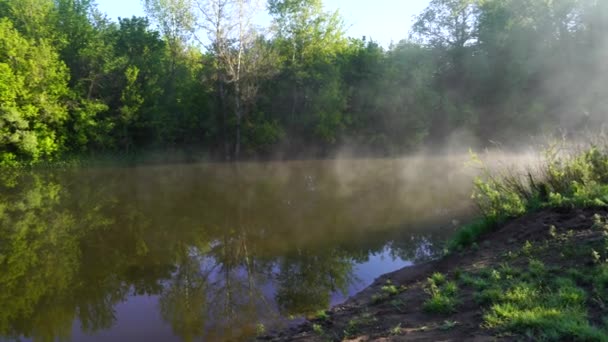
[[[454,280],[433,274],[427,280],[424,310],[456,312],[460,286],[472,292],[481,307],[482,327],[498,335],[534,341],[608,341],[608,218],[596,215],[593,221],[589,230],[599,240],[581,241],[572,230],[560,234],[549,227],[544,243],[525,241],[513,258],[503,258],[508,261],[469,272],[455,269]],[[560,255],[561,246],[573,249],[571,257],[549,257]],[[446,320],[439,329],[455,325]]]

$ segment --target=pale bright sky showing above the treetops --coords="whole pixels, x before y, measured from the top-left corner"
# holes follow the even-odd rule
[[[325,0],[328,11],[339,10],[350,37],[366,36],[383,46],[407,38],[413,17],[429,0]],[[97,0],[98,8],[110,18],[144,15],[141,0]],[[261,16],[261,20],[269,20]]]

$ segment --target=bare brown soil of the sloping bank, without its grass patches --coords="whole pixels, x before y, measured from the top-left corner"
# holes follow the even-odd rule
[[[484,274],[490,274],[491,277],[492,274],[496,276],[495,273],[498,272],[507,272],[504,269],[517,269],[519,275],[512,275],[512,279],[523,277],[523,284],[532,284],[532,280],[526,277],[534,272],[536,263],[542,263],[547,272],[546,276],[551,278],[566,278],[568,272],[576,270],[592,272],[596,266],[589,265],[591,250],[599,248],[596,245],[603,244],[604,240],[608,241],[608,233],[593,228],[598,217],[606,217],[606,221],[602,222],[608,222],[608,209],[552,208],[526,214],[482,236],[479,245],[475,245],[477,247],[381,275],[370,286],[324,314],[318,314],[303,324],[273,332],[268,336],[260,336],[258,339],[494,341],[525,338],[526,331],[541,336],[542,327],[535,329],[533,324],[526,328],[528,330],[522,331],[518,331],[517,327],[505,329],[488,324],[488,317],[491,317],[494,306],[500,303],[500,300],[484,302],[480,298],[490,296],[492,289],[498,290],[500,286],[508,293],[511,286],[509,282],[515,283],[505,280],[505,277],[509,276],[503,275],[502,280],[497,280],[497,284],[487,285],[486,288],[477,288],[476,282],[481,283]],[[560,255],[560,250],[569,248],[568,244],[574,255]],[[436,290],[432,290],[429,283],[435,278],[444,279],[443,285],[437,282]],[[585,298],[591,297],[594,291],[597,291],[592,289],[593,281],[589,281],[591,283],[574,279],[576,288],[587,291]],[[429,304],[430,298],[434,298],[433,291],[436,291],[436,295],[450,283],[458,287],[454,307],[442,311],[441,307],[437,306],[433,312]],[[593,301],[585,300],[584,303],[585,312],[589,313],[588,332],[596,332],[599,337],[585,339],[564,332],[565,335],[560,338],[566,336],[575,340],[607,341],[608,330],[604,330],[607,327],[602,327],[605,324],[604,315],[607,313],[602,312],[599,304],[596,305]]]

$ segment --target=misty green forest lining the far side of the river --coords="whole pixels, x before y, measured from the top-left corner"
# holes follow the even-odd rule
[[[347,37],[321,0],[143,5],[116,22],[93,0],[0,0],[0,164],[399,155],[606,118],[603,0],[432,0],[388,48]]]

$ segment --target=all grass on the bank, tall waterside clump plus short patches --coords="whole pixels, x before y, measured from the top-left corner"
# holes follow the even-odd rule
[[[473,159],[479,161],[476,156]],[[453,236],[449,252],[470,248],[501,223],[538,209],[608,206],[606,147],[578,153],[550,150],[544,165],[525,175],[493,174],[483,165],[482,170],[473,195],[481,217]],[[547,266],[538,256],[549,250],[549,242],[526,241],[503,258],[527,258],[523,269],[505,262],[475,273],[457,272],[458,284],[473,289],[475,302],[483,308],[483,327],[531,340],[608,341],[608,218],[596,215],[591,229],[604,236],[599,246],[576,241],[572,230],[560,234],[550,226],[547,232],[547,240],[563,246],[556,252],[562,260],[588,260],[584,267]],[[449,314],[456,310],[458,288],[448,284],[443,275],[428,279],[430,298],[424,303],[425,311]],[[597,317],[590,319],[591,307],[599,308],[604,323],[597,324]]]

